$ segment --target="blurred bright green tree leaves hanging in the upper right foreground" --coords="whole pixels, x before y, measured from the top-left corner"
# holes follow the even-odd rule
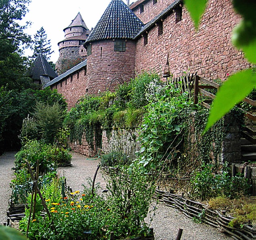
[[[207,2],[208,0],[185,0],[196,29]],[[249,62],[256,64],[256,1],[233,0],[233,7],[242,16],[242,20],[233,30],[232,42],[238,49],[242,49]],[[241,102],[255,87],[255,65],[230,76],[216,95],[205,131]]]

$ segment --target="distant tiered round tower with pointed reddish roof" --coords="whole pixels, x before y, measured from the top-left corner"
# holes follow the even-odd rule
[[[56,62],[58,74],[66,72],[79,62],[87,58],[83,44],[90,34],[80,12],[70,25],[64,28],[65,39],[58,43],[60,56]]]

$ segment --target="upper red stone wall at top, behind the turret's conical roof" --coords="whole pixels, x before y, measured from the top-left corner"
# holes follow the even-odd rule
[[[162,10],[167,8],[174,0],[158,0],[156,4],[153,4],[153,0],[144,2],[144,12],[140,13],[140,7],[136,6],[132,8],[132,11],[140,18],[140,20],[146,24],[152,20],[155,16],[160,14]],[[136,2],[135,2],[136,4]],[[134,5],[135,5],[134,4]],[[132,6],[131,6],[132,7]]]

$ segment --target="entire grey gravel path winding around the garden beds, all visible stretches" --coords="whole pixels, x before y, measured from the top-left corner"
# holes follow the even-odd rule
[[[0,157],[0,223],[5,221],[8,199],[10,198],[10,181],[13,178],[11,168],[14,166],[14,152],[7,152]],[[73,191],[83,190],[87,178],[93,179],[99,160],[87,160],[85,156],[73,154],[72,167],[58,168],[60,175],[65,176],[67,184]],[[106,184],[102,173],[98,172],[96,183],[100,182],[102,189]],[[154,206],[154,204],[152,204]],[[231,240],[232,238],[220,233],[216,228],[206,224],[193,222],[176,209],[162,203],[157,205],[151,227],[154,228],[156,240],[173,240],[176,238],[178,228],[183,229],[182,240]],[[150,216],[147,221],[149,222]]]

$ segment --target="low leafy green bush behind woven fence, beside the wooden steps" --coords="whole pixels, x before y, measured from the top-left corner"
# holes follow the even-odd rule
[[[201,170],[193,174],[191,183],[194,197],[201,200],[217,196],[236,198],[248,194],[250,188],[243,176],[230,177],[227,165],[220,174],[215,174],[212,164],[202,164]]]

